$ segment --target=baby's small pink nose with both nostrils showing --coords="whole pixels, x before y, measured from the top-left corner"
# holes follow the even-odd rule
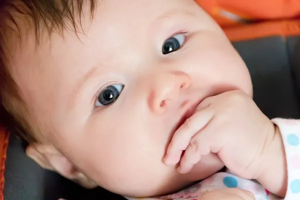
[[[181,91],[190,86],[191,79],[184,72],[171,71],[159,74],[152,82],[148,104],[153,112],[162,113]]]

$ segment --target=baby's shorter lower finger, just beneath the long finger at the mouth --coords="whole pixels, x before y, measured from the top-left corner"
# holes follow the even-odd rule
[[[205,130],[205,128],[203,129]],[[201,131],[194,135],[183,156],[180,159],[180,165],[178,167],[179,173],[189,172],[193,165],[198,163],[202,155],[207,155],[210,152],[209,141],[202,136]]]

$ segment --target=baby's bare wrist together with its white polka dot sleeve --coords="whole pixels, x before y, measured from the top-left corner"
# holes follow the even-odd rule
[[[257,180],[285,199],[300,199],[300,121],[273,119],[277,126],[271,145],[265,149]]]

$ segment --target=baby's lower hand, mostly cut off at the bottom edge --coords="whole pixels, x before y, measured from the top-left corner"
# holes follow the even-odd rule
[[[198,200],[255,200],[254,195],[246,190],[227,188],[209,191],[199,196]]]

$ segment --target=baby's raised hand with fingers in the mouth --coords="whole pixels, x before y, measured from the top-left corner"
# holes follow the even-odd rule
[[[204,99],[177,129],[164,163],[180,162],[178,171],[187,173],[202,155],[212,152],[236,175],[255,178],[264,147],[273,135],[273,123],[250,96],[242,91],[221,93]]]

